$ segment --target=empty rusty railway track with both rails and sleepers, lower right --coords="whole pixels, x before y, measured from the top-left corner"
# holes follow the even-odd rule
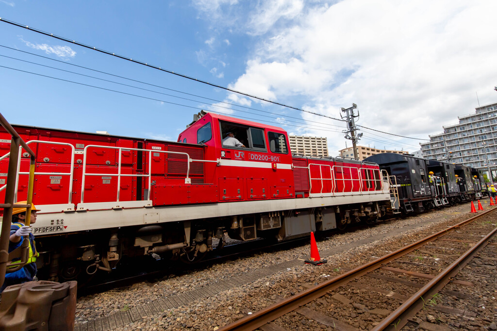
[[[309,329],[401,330],[408,323],[427,323],[416,318],[420,311],[463,315],[462,310],[442,305],[442,296],[471,299],[446,285],[472,286],[454,277],[495,241],[496,219],[497,210],[490,209],[219,330],[284,331],[285,323],[298,316]],[[436,327],[449,330],[443,325]]]

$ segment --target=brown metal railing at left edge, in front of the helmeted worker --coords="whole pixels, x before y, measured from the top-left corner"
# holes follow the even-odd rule
[[[0,208],[3,208],[3,219],[1,224],[0,233],[0,286],[5,280],[6,272],[17,271],[22,268],[29,255],[29,239],[24,238],[22,245],[8,253],[8,244],[10,237],[10,224],[12,223],[12,209],[26,208],[26,225],[29,226],[31,220],[31,202],[33,197],[33,184],[34,184],[34,167],[35,167],[35,154],[29,148],[29,146],[21,139],[19,134],[15,132],[14,128],[5,120],[3,115],[0,114],[0,125],[12,136],[12,141],[10,143],[10,155],[8,160],[8,172],[7,172],[7,182],[5,188],[5,202],[0,203]],[[15,178],[17,172],[17,162],[20,147],[23,147],[26,152],[30,155],[30,166],[29,166],[29,182],[28,182],[28,196],[26,204],[14,204],[14,191],[15,191]],[[13,259],[19,258],[20,260],[14,263],[10,262]]]

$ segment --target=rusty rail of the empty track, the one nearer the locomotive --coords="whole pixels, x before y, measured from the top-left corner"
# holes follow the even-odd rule
[[[401,249],[398,249],[395,252],[392,252],[390,254],[387,254],[381,258],[378,258],[374,261],[371,261],[365,265],[361,265],[355,269],[352,269],[350,271],[347,271],[341,275],[338,275],[336,277],[333,277],[332,279],[325,281],[316,287],[310,288],[308,290],[305,290],[303,292],[297,293],[285,300],[282,300],[280,302],[275,303],[274,305],[268,306],[258,312],[255,312],[251,315],[248,315],[238,321],[233,322],[232,324],[229,324],[221,329],[220,331],[232,331],[232,330],[237,330],[237,331],[253,331],[256,330],[266,323],[269,323],[271,321],[274,321],[275,319],[290,313],[294,311],[295,309],[304,306],[308,304],[309,302],[312,302],[313,300],[325,295],[327,292],[332,291],[342,285],[347,284],[350,281],[353,281],[355,278],[360,277],[368,272],[371,272],[382,265],[389,263],[391,261],[394,261],[398,259],[401,256],[404,256],[417,248],[425,245],[426,243],[429,243],[431,241],[434,241],[438,237],[441,237],[448,232],[460,227],[461,225],[473,222],[474,220],[489,214],[490,212],[495,211],[495,209],[489,209],[479,215],[476,215],[474,217],[471,217],[465,221],[462,221],[456,225],[453,225],[445,230],[439,231],[435,234],[432,234],[431,236],[428,236],[426,238],[423,238],[421,240],[418,240],[415,243],[412,243],[406,247],[403,247]],[[390,325],[390,324],[389,324]],[[388,325],[387,325],[388,326]],[[375,329],[375,330],[382,330],[382,329]]]

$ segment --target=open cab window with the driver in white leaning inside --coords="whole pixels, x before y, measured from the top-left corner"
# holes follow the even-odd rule
[[[223,147],[266,151],[264,130],[220,122]]]

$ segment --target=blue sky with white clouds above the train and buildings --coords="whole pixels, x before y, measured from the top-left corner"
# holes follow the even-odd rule
[[[357,125],[405,136],[359,128],[359,145],[413,152],[497,102],[496,14],[495,0],[0,0],[2,19],[307,111],[0,22],[0,112],[176,141],[214,111],[326,136],[337,155],[355,103]]]

